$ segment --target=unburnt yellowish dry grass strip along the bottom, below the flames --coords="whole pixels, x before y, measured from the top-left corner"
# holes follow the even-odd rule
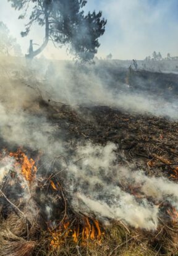
[[[24,218],[12,213],[0,224],[1,256],[178,256],[178,224],[160,220],[156,232],[127,228],[112,223],[103,228],[99,241],[74,242],[72,236],[61,237],[59,247],[51,247],[51,233],[40,221],[28,226]],[[103,231],[102,230],[102,231]]]

